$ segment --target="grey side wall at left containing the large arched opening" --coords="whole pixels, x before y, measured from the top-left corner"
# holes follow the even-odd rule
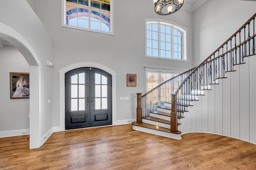
[[[52,128],[52,105],[47,104],[47,100],[52,98],[52,68],[46,66],[47,59],[52,61],[52,38],[26,0],[1,1],[0,23],[8,25],[13,29],[12,33],[19,36],[19,38],[14,37],[14,39],[22,39],[24,40],[22,43],[26,42],[27,46],[20,48],[22,54],[33,55],[33,57],[24,56],[27,62],[30,63],[30,70],[33,71],[30,72],[30,75],[37,72],[37,77],[34,78],[38,80],[34,81],[35,79],[31,79],[31,81],[39,82],[39,84],[35,85],[35,92],[38,94],[34,94],[38,97],[36,99],[37,104],[32,106],[36,107],[38,111],[30,112],[30,115],[35,116],[39,121],[33,122],[35,127],[30,127],[30,130],[37,129],[36,134],[42,137]],[[0,33],[1,29],[0,27]],[[21,45],[17,40],[14,40],[14,42]],[[37,65],[39,65],[39,70],[33,67]],[[36,141],[38,140],[36,139]],[[35,147],[39,147],[38,144]]]

